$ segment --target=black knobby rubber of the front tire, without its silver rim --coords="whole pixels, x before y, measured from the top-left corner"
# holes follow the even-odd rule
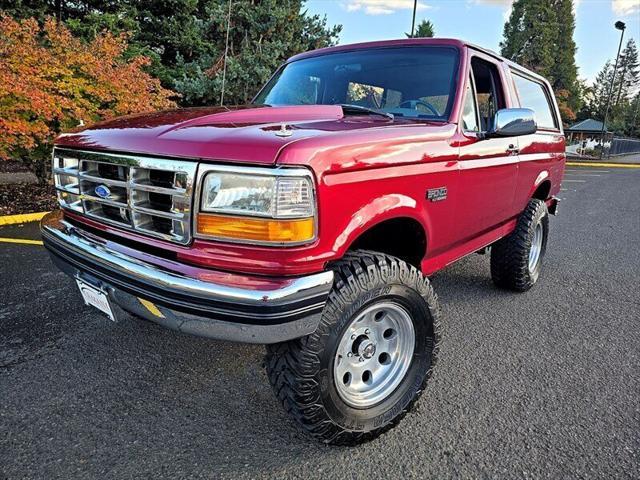
[[[359,250],[332,269],[333,290],[318,329],[269,345],[266,369],[276,396],[304,431],[327,444],[356,445],[394,427],[424,390],[437,359],[439,308],[429,280],[398,258]],[[353,408],[334,384],[338,342],[359,312],[381,300],[397,302],[410,313],[414,353],[392,393],[370,408]]]

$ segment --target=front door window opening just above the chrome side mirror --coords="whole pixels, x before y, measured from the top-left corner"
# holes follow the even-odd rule
[[[471,60],[471,70],[476,86],[476,103],[480,113],[480,129],[491,128],[496,112],[504,108],[500,75],[495,65],[479,58]]]

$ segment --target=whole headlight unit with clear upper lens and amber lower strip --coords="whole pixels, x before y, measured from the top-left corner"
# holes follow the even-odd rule
[[[308,172],[233,170],[205,174],[196,227],[200,236],[280,245],[315,238],[315,198]]]

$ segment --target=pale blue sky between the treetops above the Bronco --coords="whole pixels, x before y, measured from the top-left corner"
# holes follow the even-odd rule
[[[431,20],[437,37],[467,40],[499,51],[511,0],[419,0],[416,24]],[[620,31],[627,24],[624,43],[633,38],[640,47],[640,0],[574,0],[578,46],[578,75],[589,82],[608,59],[615,59]],[[411,30],[413,0],[307,0],[309,13],[326,15],[330,25],[341,24],[340,44],[405,38]],[[624,44],[623,44],[624,48]]]

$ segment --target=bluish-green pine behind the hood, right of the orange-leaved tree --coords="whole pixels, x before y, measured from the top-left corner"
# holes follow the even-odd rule
[[[289,56],[333,45],[340,26],[328,28],[326,19],[309,16],[302,2],[277,0],[236,1],[231,9],[231,29],[225,73],[225,104],[251,101],[259,88]],[[227,33],[227,2],[209,8],[207,30],[214,48],[195,60],[180,58],[181,78],[174,88],[187,105],[220,102]]]

